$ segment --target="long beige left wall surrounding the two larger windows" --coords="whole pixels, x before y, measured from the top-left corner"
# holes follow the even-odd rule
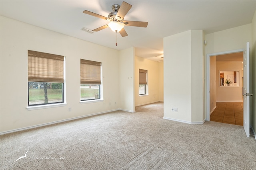
[[[129,104],[128,107],[123,106],[119,96],[119,64],[124,63],[122,58],[124,53],[128,52],[130,55],[127,60],[132,59],[132,49],[119,52],[2,16],[0,19],[1,133],[94,113],[103,113],[119,109],[121,106],[125,109],[133,109],[133,104]],[[64,95],[66,96],[66,106],[30,111],[26,109],[28,106],[28,49],[65,56],[66,93]],[[121,61],[119,61],[120,55]],[[80,104],[80,59],[102,62],[103,101]],[[129,64],[132,65],[132,61],[129,61]],[[129,74],[122,72],[120,74],[126,76],[126,79],[127,76],[133,78],[133,68],[131,69]],[[132,87],[133,85],[128,86],[128,89],[125,90],[133,92],[132,89],[129,89]],[[121,88],[124,87],[121,86]],[[126,98],[126,94],[121,97]],[[128,99],[132,100],[132,96],[129,95]],[[69,107],[71,111],[68,111]]]

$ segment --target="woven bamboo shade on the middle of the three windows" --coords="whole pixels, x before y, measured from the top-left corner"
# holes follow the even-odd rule
[[[81,84],[101,84],[101,63],[96,61],[81,60]]]

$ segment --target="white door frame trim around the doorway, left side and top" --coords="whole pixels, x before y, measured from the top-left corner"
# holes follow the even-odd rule
[[[210,57],[239,52],[244,52],[244,49],[210,53],[206,55],[206,121],[210,121]]]

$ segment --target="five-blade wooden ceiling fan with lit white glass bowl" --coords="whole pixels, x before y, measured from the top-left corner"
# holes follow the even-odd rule
[[[116,33],[119,32],[122,37],[125,37],[128,34],[124,30],[124,25],[134,26],[134,27],[147,27],[148,26],[148,22],[124,20],[124,16],[128,13],[128,11],[131,8],[132,8],[132,5],[128,4],[127,2],[122,2],[121,6],[118,4],[112,5],[113,12],[110,12],[108,14],[108,17],[104,17],[99,14],[95,14],[94,12],[87,11],[87,10],[85,10],[83,13],[101,18],[103,20],[110,21],[110,23],[103,25],[101,27],[98,27],[92,31],[100,31],[102,29],[110,27],[112,29],[112,31],[115,31]]]

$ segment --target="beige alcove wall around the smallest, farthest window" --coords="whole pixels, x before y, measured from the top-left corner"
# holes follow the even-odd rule
[[[159,86],[163,85],[163,72],[160,74],[162,68],[161,65],[156,61],[151,61],[142,57],[135,57],[134,68],[135,105],[140,106],[160,101],[160,93],[163,93],[163,91],[160,92],[159,90]],[[139,96],[139,69],[148,70],[148,95]]]

